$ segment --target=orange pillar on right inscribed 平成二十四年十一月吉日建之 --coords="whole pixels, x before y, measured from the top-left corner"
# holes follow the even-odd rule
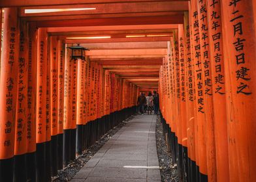
[[[198,149],[197,164],[199,165],[199,174],[197,181],[207,181],[207,162],[206,162],[206,143],[204,140],[204,81],[202,77],[202,61],[200,57],[200,27],[199,12],[197,10],[197,0],[191,1],[191,53],[195,73],[195,98],[196,98],[196,149]]]

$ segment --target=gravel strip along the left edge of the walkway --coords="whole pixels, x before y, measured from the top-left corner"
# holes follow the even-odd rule
[[[57,177],[52,178],[52,181],[70,181],[74,175],[86,164],[86,162],[99,151],[99,149],[113,136],[118,132],[118,130],[126,125],[129,120],[132,120],[133,116],[127,118],[127,120],[121,122],[118,126],[114,127],[114,129],[108,131],[104,136],[101,137],[99,141],[97,141],[93,146],[89,147],[80,155],[76,160],[72,161],[67,168],[58,171]]]

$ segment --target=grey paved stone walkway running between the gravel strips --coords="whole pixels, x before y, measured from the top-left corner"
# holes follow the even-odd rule
[[[155,115],[135,116],[104,144],[71,181],[161,181],[155,122]]]

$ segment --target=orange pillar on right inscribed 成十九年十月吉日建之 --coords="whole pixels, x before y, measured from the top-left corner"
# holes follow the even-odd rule
[[[204,128],[208,181],[216,181],[216,149],[214,137],[214,109],[212,102],[212,70],[209,48],[208,16],[206,0],[197,0],[199,16],[200,61],[202,63],[202,84],[204,87]]]

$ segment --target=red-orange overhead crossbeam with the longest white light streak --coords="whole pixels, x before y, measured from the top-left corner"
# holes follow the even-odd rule
[[[62,9],[61,12],[25,13],[26,9]],[[95,10],[68,10],[71,8],[95,8]],[[65,10],[67,9],[67,10]],[[65,11],[64,11],[65,10]],[[81,14],[122,14],[140,12],[184,12],[188,10],[188,3],[184,1],[161,1],[161,2],[125,2],[108,4],[88,5],[63,5],[63,6],[36,6],[21,8],[20,16],[70,16]]]

